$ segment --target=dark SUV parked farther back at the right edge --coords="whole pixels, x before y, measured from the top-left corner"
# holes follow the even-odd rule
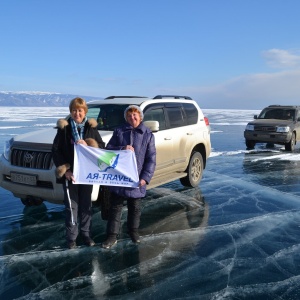
[[[253,149],[256,143],[284,145],[293,151],[300,140],[300,106],[270,105],[264,108],[244,131],[246,146]]]

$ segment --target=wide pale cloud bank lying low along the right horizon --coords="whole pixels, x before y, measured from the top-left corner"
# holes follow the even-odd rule
[[[300,105],[300,70],[250,74],[222,84],[188,88],[203,108],[262,109],[271,104]]]

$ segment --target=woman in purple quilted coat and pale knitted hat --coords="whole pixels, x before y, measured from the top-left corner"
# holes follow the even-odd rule
[[[114,130],[106,149],[134,151],[139,174],[139,187],[109,187],[111,195],[106,229],[107,239],[102,243],[102,247],[106,249],[117,243],[125,200],[128,208],[127,229],[129,236],[134,243],[140,242],[138,233],[141,217],[140,202],[141,198],[146,195],[146,185],[150,183],[156,166],[154,135],[142,122],[142,110],[139,106],[130,105],[125,109],[124,117],[126,123]]]

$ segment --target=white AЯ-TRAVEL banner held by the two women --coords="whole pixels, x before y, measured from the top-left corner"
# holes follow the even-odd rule
[[[131,150],[103,150],[74,146],[75,184],[138,187],[136,158]]]

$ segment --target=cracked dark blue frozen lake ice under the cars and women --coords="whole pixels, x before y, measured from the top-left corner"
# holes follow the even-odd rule
[[[142,201],[142,243],[123,231],[100,247],[65,248],[64,208],[24,207],[0,188],[0,299],[300,299],[300,147],[257,145],[246,123],[258,111],[203,110],[212,154],[197,188],[179,181]],[[54,126],[67,108],[1,108],[0,149],[15,134]]]

